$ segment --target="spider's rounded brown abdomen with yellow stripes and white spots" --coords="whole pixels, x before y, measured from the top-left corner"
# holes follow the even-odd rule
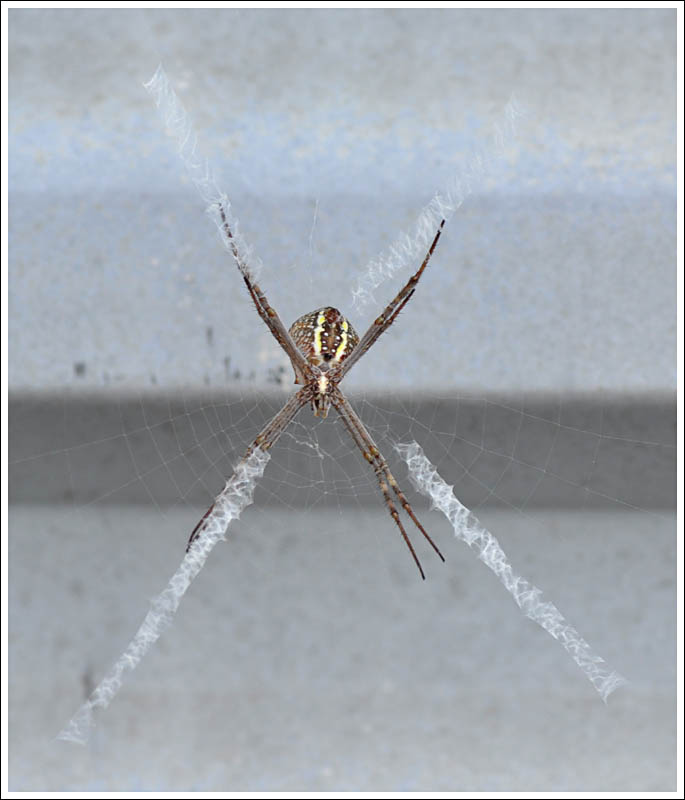
[[[289,333],[307,361],[321,369],[344,361],[359,342],[352,323],[331,306],[296,319]]]

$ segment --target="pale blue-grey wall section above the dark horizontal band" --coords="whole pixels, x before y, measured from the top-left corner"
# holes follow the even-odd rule
[[[491,152],[512,93],[526,109],[351,384],[672,390],[675,28],[667,9],[11,9],[12,385],[283,364],[142,88],[162,61],[288,324],[327,304],[368,324],[358,273]]]

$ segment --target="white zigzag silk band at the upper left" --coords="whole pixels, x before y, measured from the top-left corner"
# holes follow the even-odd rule
[[[178,99],[161,64],[152,78],[143,86],[155,101],[167,134],[175,141],[178,156],[186,173],[200,193],[207,213],[214,220],[224,247],[235,257],[240,271],[256,281],[261,263],[245,242],[240,232],[240,223],[231,210],[228,196],[219,188],[209,162],[199,155],[197,134],[192,121],[183,107],[183,103]],[[221,216],[222,210],[231,231],[230,240]]]

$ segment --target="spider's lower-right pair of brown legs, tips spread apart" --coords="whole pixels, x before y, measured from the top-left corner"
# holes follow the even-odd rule
[[[343,393],[340,391],[339,388],[336,388],[335,391],[331,395],[331,402],[335,407],[336,411],[340,415],[345,427],[350,432],[352,439],[354,440],[357,447],[361,450],[362,455],[366,459],[366,461],[371,464],[373,467],[374,472],[376,473],[376,479],[378,480],[378,485],[380,486],[380,490],[383,493],[383,498],[385,499],[385,503],[388,507],[388,511],[390,512],[390,516],[395,521],[395,524],[400,529],[400,533],[409,548],[414,561],[416,562],[416,566],[419,568],[419,572],[421,573],[421,577],[425,580],[426,576],[423,572],[423,568],[421,567],[421,562],[414,551],[414,548],[409,540],[409,536],[402,525],[400,520],[399,514],[397,513],[397,508],[392,500],[390,495],[390,490],[388,485],[392,487],[392,490],[396,494],[402,508],[407,512],[413,523],[416,527],[421,531],[427,541],[430,543],[431,547],[435,550],[435,552],[440,556],[440,558],[444,561],[445,557],[438,549],[435,542],[431,539],[431,537],[426,532],[423,525],[419,522],[414,514],[414,510],[412,509],[409,501],[407,500],[404,492],[400,489],[397,481],[395,480],[395,476],[390,472],[390,468],[388,467],[388,462],[385,458],[381,455],[378,447],[376,447],[375,442],[371,438],[371,434],[367,431],[366,426],[361,421],[357,412],[352,408],[350,403],[348,402],[347,398]]]

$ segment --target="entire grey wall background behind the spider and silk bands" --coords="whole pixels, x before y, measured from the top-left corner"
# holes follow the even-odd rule
[[[10,788],[674,788],[675,41],[661,9],[10,9]],[[464,548],[421,584],[307,414],[91,747],[53,740],[290,387],[160,62],[287,324],[363,329],[358,275],[516,95],[345,384],[631,680],[608,707]]]

